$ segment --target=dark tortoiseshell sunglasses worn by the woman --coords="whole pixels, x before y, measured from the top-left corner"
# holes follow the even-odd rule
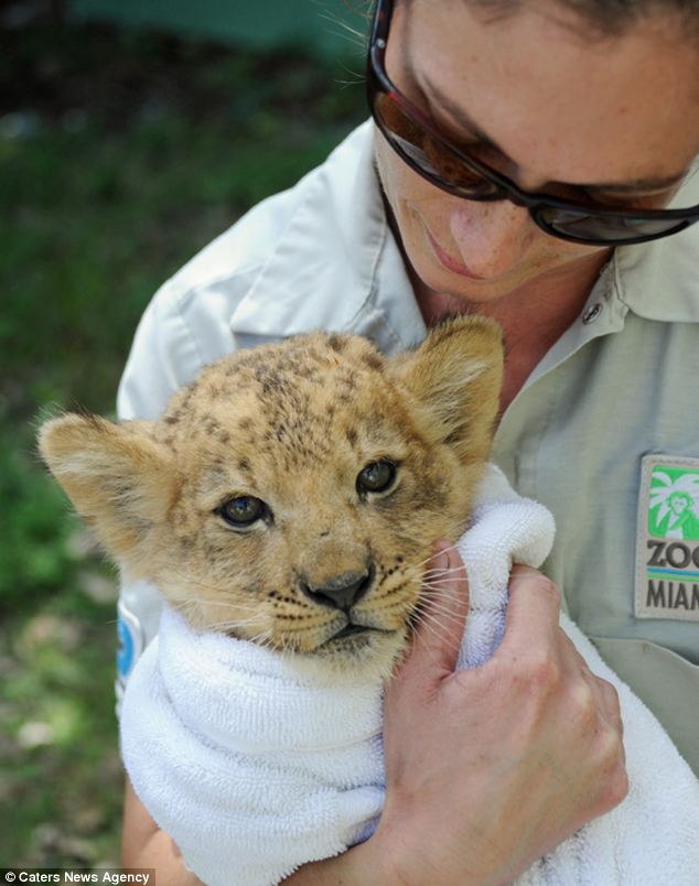
[[[549,194],[531,194],[456,148],[400,94],[386,73],[386,44],[392,12],[394,0],[378,0],[367,62],[369,107],[385,139],[418,175],[464,199],[508,199],[526,207],[546,234],[589,246],[646,242],[699,222],[699,206],[622,210],[588,206]]]

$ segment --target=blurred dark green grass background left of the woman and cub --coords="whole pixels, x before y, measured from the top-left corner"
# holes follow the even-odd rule
[[[352,40],[334,60],[221,45],[76,23],[61,0],[4,3],[0,29],[0,866],[103,866],[122,785],[116,576],[35,428],[75,404],[114,414],[152,293],[366,116],[364,63]]]

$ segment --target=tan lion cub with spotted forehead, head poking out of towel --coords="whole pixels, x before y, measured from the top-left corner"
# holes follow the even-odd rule
[[[52,419],[40,450],[127,577],[195,628],[388,676],[433,541],[465,529],[502,365],[478,317],[394,358],[312,333],[212,364],[159,421]]]

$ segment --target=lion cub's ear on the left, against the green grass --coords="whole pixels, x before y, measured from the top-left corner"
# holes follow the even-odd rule
[[[126,562],[143,555],[139,549],[178,489],[173,456],[151,439],[151,428],[66,414],[39,432],[41,455],[77,512],[107,552]]]

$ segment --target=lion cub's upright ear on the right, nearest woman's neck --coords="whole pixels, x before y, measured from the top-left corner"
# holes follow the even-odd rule
[[[394,360],[400,382],[423,407],[428,437],[463,462],[487,457],[503,385],[503,336],[495,321],[460,316],[432,327]]]

